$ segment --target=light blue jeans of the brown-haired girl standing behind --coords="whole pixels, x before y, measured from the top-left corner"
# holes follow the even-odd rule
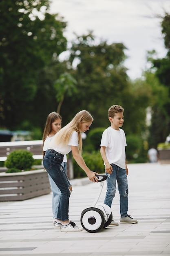
[[[67,173],[67,164],[62,162],[62,167],[64,169],[64,172]],[[61,191],[49,175],[49,182],[51,186],[51,191],[53,193],[52,197],[52,211],[53,211],[53,218],[57,218],[57,213],[58,213],[58,207],[60,203],[60,197],[61,197]]]

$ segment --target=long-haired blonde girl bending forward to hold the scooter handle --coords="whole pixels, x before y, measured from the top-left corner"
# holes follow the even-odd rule
[[[72,186],[64,173],[62,162],[64,155],[72,151],[73,158],[77,164],[84,170],[89,180],[98,182],[95,174],[84,162],[82,157],[82,137],[81,133],[89,130],[93,122],[93,117],[86,110],[78,112],[75,117],[54,135],[49,149],[46,150],[43,165],[49,173],[55,184],[61,191],[59,211],[57,213],[56,223],[61,232],[82,231],[82,227],[77,227],[74,222],[68,220],[69,198],[72,192]]]

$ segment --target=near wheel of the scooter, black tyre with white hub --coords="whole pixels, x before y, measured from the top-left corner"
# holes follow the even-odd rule
[[[104,227],[104,213],[98,208],[89,207],[82,211],[80,221],[86,231],[95,233]]]

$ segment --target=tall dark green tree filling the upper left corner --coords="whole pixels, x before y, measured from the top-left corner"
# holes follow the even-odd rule
[[[57,14],[49,14],[48,7],[48,0],[0,1],[2,127],[36,126],[37,117],[33,116],[43,112],[46,90],[49,97],[53,95],[51,84],[40,82],[42,74],[49,72],[49,66],[54,66],[57,56],[66,49],[66,23]]]

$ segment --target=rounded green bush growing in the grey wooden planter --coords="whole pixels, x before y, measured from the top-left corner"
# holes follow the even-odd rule
[[[4,162],[4,166],[8,169],[15,168],[20,171],[28,171],[33,165],[34,159],[33,154],[27,150],[19,149],[12,151],[7,160]]]

